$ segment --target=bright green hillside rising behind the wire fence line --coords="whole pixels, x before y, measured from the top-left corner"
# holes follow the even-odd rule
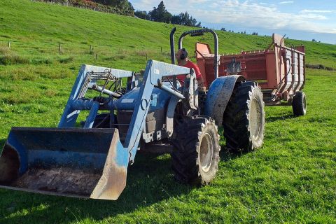
[[[74,61],[78,63],[92,62],[92,57],[85,55],[89,45],[93,45],[94,51],[105,57],[118,55],[122,50],[127,57],[126,61],[129,57],[139,56],[134,54],[134,50],[143,48],[158,51],[162,47],[164,52],[169,52],[169,32],[172,27],[122,15],[25,0],[4,1],[0,8],[2,45],[6,45],[6,41],[11,41],[12,49],[29,59],[61,57],[57,55],[59,42],[64,45],[64,55],[76,57]],[[188,29],[190,27],[179,27],[177,34]],[[224,31],[217,33],[221,53],[267,48],[271,40],[265,36],[232,34]],[[212,43],[211,35],[200,38],[200,41]],[[189,48],[193,48],[191,42],[187,43]],[[307,62],[314,61],[325,66],[332,66],[336,62],[336,45],[293,40],[286,40],[286,43],[306,45]],[[139,69],[142,67],[142,62],[139,64],[137,62],[134,68]],[[98,63],[116,64],[109,61]]]

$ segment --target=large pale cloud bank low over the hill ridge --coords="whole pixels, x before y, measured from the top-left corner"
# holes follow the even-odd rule
[[[132,3],[134,8],[151,10],[158,5],[157,0],[139,0]],[[144,8],[144,7],[148,8]],[[265,5],[252,0],[169,0],[165,6],[170,13],[188,11],[193,18],[202,23],[227,26],[233,24],[246,29],[290,29],[315,33],[336,34],[334,20],[325,13],[332,10],[301,10],[300,13],[286,13],[276,5]]]

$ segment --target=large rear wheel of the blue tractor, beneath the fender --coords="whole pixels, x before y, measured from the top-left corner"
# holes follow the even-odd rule
[[[226,147],[233,151],[260,148],[264,140],[265,104],[255,82],[237,83],[223,115]]]

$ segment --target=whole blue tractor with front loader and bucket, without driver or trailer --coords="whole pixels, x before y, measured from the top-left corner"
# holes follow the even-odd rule
[[[185,75],[184,85],[178,75]],[[220,134],[227,148],[248,151],[262,146],[265,128],[258,84],[235,74],[218,77],[218,67],[214,77],[199,90],[195,71],[174,63],[149,60],[143,74],[81,66],[57,128],[12,127],[0,157],[0,187],[117,200],[137,151],[171,153],[177,181],[210,183]]]

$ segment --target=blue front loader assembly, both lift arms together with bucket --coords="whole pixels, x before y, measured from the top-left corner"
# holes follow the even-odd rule
[[[118,128],[92,128],[98,110],[114,111],[120,99],[85,98],[98,79],[132,77],[131,71],[82,66],[58,128],[13,127],[0,156],[0,188],[34,193],[117,200],[126,186],[127,167],[134,161],[151,95],[155,87],[183,99],[177,90],[159,85],[165,76],[190,74],[190,69],[148,61],[144,80],[138,86],[133,115],[123,143]],[[134,86],[135,87],[135,86]],[[97,90],[96,90],[97,91]],[[133,102],[133,100],[132,100]],[[130,105],[120,104],[127,109]],[[125,108],[123,108],[123,106]],[[74,128],[78,113],[89,110],[83,128]]]

